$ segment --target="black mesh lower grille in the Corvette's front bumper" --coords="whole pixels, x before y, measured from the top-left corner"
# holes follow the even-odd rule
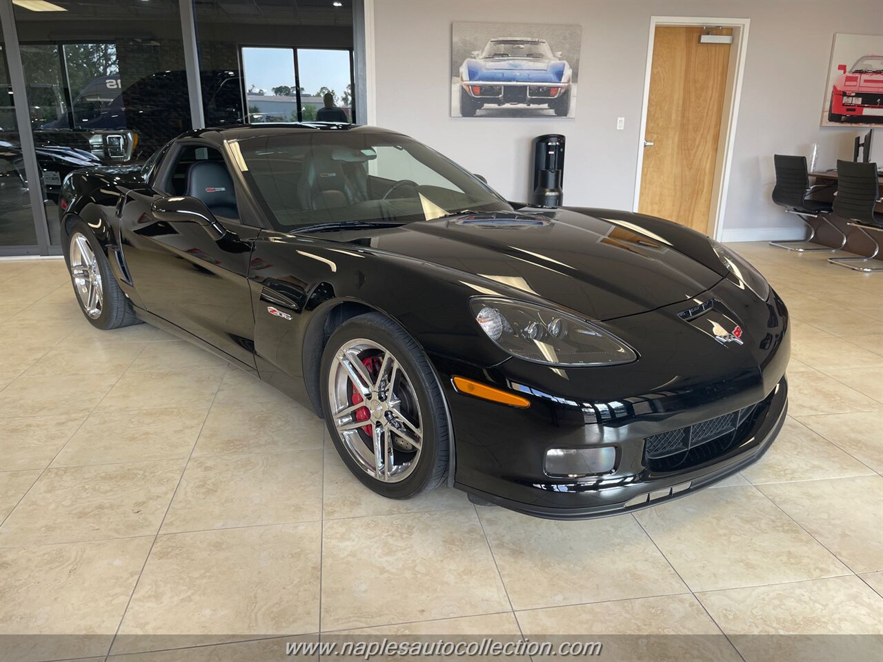
[[[645,437],[645,466],[654,471],[670,471],[721,455],[736,440],[736,432],[757,407],[752,404],[701,423]]]

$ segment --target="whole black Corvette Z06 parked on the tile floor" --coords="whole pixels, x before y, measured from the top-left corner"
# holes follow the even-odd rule
[[[206,129],[63,195],[95,327],[147,320],[308,402],[384,496],[614,515],[755,462],[785,418],[788,312],[736,253],[509,203],[396,132]]]

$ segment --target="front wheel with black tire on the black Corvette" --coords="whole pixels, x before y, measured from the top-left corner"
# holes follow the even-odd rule
[[[442,388],[417,342],[377,312],[347,320],[321,362],[322,411],[337,453],[390,499],[441,485],[449,431]]]

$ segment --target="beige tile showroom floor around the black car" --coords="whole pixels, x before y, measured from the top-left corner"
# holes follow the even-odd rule
[[[883,637],[883,275],[736,249],[792,312],[781,438],[721,486],[571,523],[381,499],[272,388],[147,325],[94,330],[60,260],[0,262],[0,657],[269,659],[356,632],[781,660],[808,651],[758,634]],[[869,654],[841,643],[813,650]]]

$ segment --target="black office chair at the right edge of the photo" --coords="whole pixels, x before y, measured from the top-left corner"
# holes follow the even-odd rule
[[[883,271],[883,264],[874,260],[880,244],[868,234],[883,232],[883,213],[876,210],[883,202],[879,192],[879,175],[876,163],[837,162],[837,192],[834,193],[834,214],[846,219],[847,225],[857,228],[874,244],[873,252],[866,258],[828,258],[828,262],[848,267],[854,271]],[[879,266],[870,266],[877,262]]]

